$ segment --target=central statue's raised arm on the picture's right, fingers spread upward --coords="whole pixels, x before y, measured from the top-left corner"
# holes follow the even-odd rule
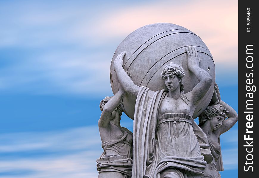
[[[199,67],[199,62],[202,58],[198,58],[197,50],[192,46],[186,49],[188,69],[194,73],[199,80],[199,83],[191,91],[192,102],[195,104],[199,101],[208,91],[212,84],[212,78],[205,70]]]

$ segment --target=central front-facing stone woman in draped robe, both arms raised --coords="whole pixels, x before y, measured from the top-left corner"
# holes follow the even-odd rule
[[[201,178],[212,161],[207,137],[192,118],[195,104],[207,93],[212,78],[199,68],[194,47],[186,49],[188,69],[199,83],[183,92],[182,66],[169,63],[161,77],[168,90],[151,91],[135,85],[126,74],[120,53],[114,61],[124,90],[137,96],[133,126],[132,178]]]

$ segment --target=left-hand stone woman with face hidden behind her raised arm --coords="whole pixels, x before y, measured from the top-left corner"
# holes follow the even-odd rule
[[[132,132],[121,127],[122,109],[120,102],[125,90],[119,84],[119,91],[113,97],[100,102],[102,111],[98,121],[104,152],[97,162],[98,178],[130,178],[132,173]]]

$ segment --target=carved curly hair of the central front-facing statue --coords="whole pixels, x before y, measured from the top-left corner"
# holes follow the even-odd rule
[[[189,106],[190,105],[190,100],[187,98],[187,96],[183,92],[184,91],[184,85],[182,83],[182,77],[184,77],[185,74],[184,74],[184,70],[183,70],[182,66],[180,66],[178,64],[175,64],[173,62],[170,62],[168,65],[166,65],[163,68],[163,71],[161,73],[161,77],[163,78],[163,80],[164,80],[164,75],[166,73],[174,74],[174,75],[176,75],[180,79],[181,98]]]

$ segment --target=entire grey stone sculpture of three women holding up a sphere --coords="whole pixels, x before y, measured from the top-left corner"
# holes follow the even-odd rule
[[[221,101],[213,58],[196,34],[168,23],[137,29],[116,49],[110,82],[99,178],[220,178],[219,136],[238,115]],[[134,118],[133,135],[120,125],[122,111]]]

